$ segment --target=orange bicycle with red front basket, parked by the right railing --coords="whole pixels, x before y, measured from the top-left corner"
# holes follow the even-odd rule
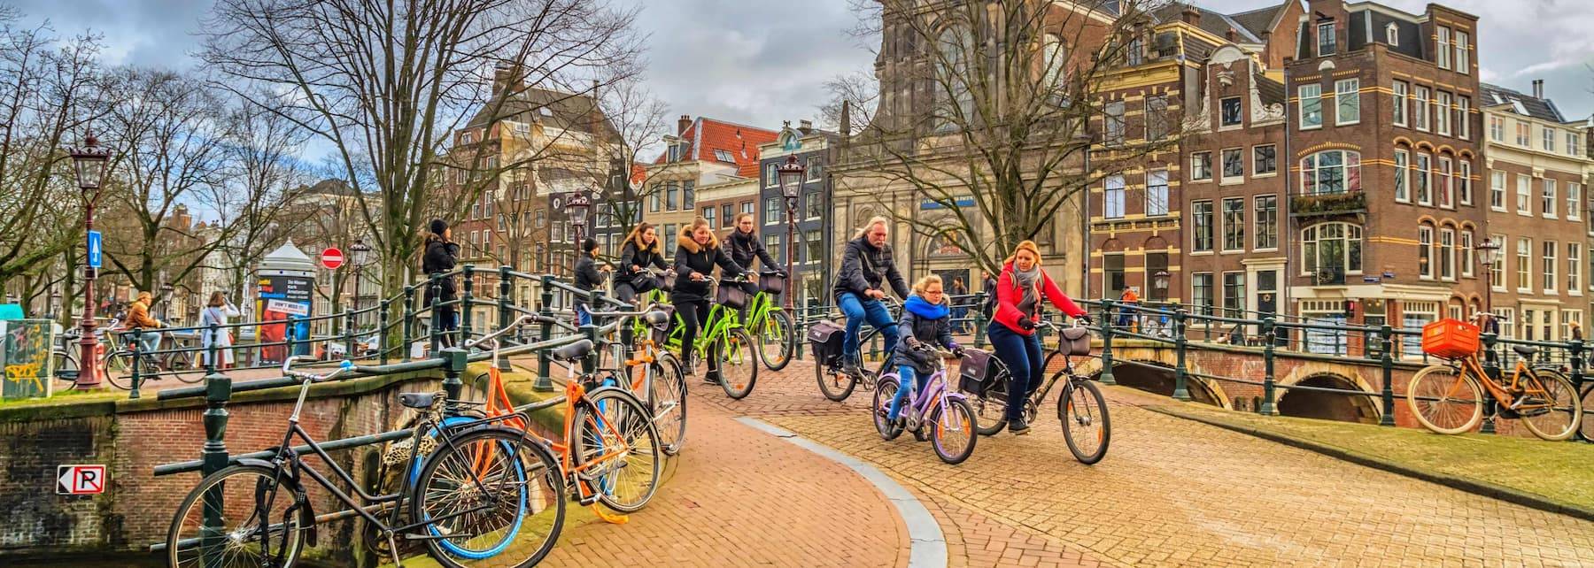
[[[1583,401],[1565,375],[1554,369],[1535,369],[1532,345],[1511,345],[1516,369],[1510,382],[1489,377],[1478,361],[1478,326],[1459,320],[1439,320],[1423,326],[1423,352],[1447,358],[1417,371],[1406,387],[1411,414],[1425,428],[1439,434],[1471,431],[1484,417],[1484,390],[1494,396],[1498,417],[1521,418],[1533,436],[1562,441],[1578,431]]]

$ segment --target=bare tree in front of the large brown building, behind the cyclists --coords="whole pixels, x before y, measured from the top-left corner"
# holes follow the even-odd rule
[[[850,177],[907,189],[950,215],[926,218],[913,207],[894,210],[897,221],[995,272],[1020,240],[1086,223],[1076,196],[1092,183],[1175,143],[1178,121],[1167,116],[1159,140],[1119,143],[1122,118],[1103,118],[1100,103],[1108,78],[1141,48],[1149,11],[1165,3],[854,0],[854,32],[886,38],[894,72],[881,75],[885,84],[862,75],[830,81],[835,102],[821,115],[843,127],[845,103],[845,127],[859,132],[843,158]]]

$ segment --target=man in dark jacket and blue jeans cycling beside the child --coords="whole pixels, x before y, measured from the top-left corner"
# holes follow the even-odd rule
[[[859,374],[858,331],[864,321],[880,329],[885,337],[885,352],[896,350],[897,326],[891,321],[891,312],[881,298],[886,298],[883,285],[889,283],[897,298],[907,298],[907,283],[897,272],[891,259],[891,245],[886,245],[886,234],[891,221],[875,216],[864,224],[858,237],[846,242],[842,251],[842,267],[835,272],[835,304],[846,315],[846,339],[842,342],[842,372]]]

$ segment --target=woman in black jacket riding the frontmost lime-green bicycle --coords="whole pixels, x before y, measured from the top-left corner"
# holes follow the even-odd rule
[[[714,266],[719,266],[720,277],[725,278],[740,277],[743,272],[741,266],[719,247],[719,239],[714,237],[708,221],[700,216],[681,228],[681,234],[676,235],[676,290],[669,293],[669,304],[681,315],[681,361],[685,363],[687,375],[695,372],[690,358],[692,344],[698,329],[708,323],[709,301],[713,301],[708,278],[714,274]],[[703,380],[711,383],[719,383],[719,364],[714,363],[717,355],[708,353],[711,363]]]

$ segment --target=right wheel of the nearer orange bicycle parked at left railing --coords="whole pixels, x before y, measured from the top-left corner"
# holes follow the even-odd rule
[[[654,498],[663,449],[647,409],[618,388],[599,388],[575,407],[571,457],[577,477],[611,509],[634,512]]]

